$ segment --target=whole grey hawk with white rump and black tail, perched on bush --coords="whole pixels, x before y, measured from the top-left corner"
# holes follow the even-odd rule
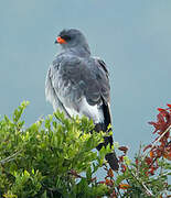
[[[110,85],[107,65],[99,57],[92,56],[85,35],[77,29],[64,29],[55,38],[61,52],[50,65],[45,80],[45,97],[54,111],[64,111],[67,118],[88,117],[95,131],[107,132],[111,124]],[[97,145],[113,145],[113,136],[106,135]],[[111,169],[117,170],[115,151],[106,154]]]

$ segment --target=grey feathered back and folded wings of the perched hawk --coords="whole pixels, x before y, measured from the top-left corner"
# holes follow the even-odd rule
[[[47,74],[46,98],[51,103],[51,96],[57,98],[68,114],[70,109],[73,109],[88,116],[84,113],[84,108],[101,106],[103,100],[109,102],[109,80],[104,68],[99,61],[94,58],[85,61],[70,55],[56,57]],[[86,99],[86,107],[83,107],[83,98]],[[92,118],[90,114],[88,117]]]

